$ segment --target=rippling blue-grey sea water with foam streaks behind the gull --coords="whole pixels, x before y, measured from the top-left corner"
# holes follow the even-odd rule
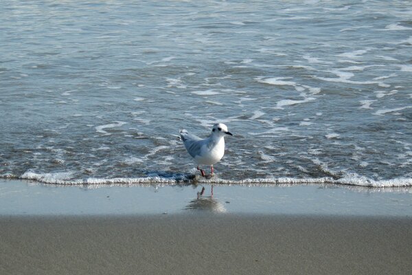
[[[191,183],[171,134],[224,122],[206,181],[412,186],[410,1],[17,1],[0,34],[0,177]]]

